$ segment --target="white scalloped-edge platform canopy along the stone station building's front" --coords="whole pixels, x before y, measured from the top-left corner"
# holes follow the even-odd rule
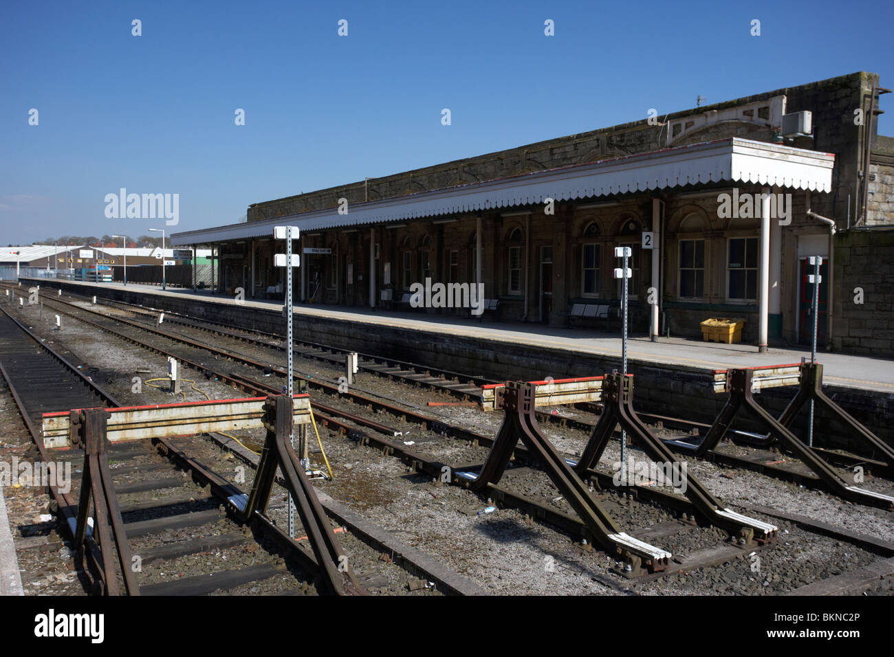
[[[717,139],[595,164],[526,173],[443,190],[356,203],[346,215],[336,207],[198,231],[175,232],[174,246],[270,236],[283,222],[301,231],[375,225],[615,194],[673,190],[721,181],[794,190],[831,191],[835,156],[751,139]]]

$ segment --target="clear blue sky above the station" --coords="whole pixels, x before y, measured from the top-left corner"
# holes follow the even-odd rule
[[[890,3],[320,5],[4,3],[0,241],[164,226],[106,218],[105,194],[122,187],[179,194],[168,230],[187,231],[235,223],[250,203],[663,115],[698,95],[710,104],[861,70],[894,88]],[[888,98],[880,132],[894,135]]]

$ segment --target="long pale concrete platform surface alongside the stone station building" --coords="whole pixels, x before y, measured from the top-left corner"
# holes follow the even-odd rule
[[[49,285],[52,285],[53,282],[53,280],[46,281]],[[129,283],[124,286],[122,283],[108,282],[63,282],[85,288],[85,294],[89,294],[91,288],[105,288],[139,291],[143,294],[181,299],[199,298],[203,301],[227,305],[236,304],[231,297],[213,294],[209,291],[191,291],[181,288],[168,288],[162,291],[157,285],[139,283]],[[246,299],[241,302],[241,306],[277,312],[282,307],[282,303]],[[593,329],[498,322],[493,319],[479,321],[477,317],[460,318],[402,310],[373,310],[363,307],[316,304],[296,305],[295,314],[325,316],[357,324],[384,324],[405,329],[462,335],[484,341],[523,343],[616,358],[620,358],[621,353],[620,333],[605,333]],[[729,367],[799,363],[801,358],[810,358],[810,349],[802,346],[784,349],[772,347],[765,353],[758,353],[755,345],[751,344],[721,344],[684,338],[660,338],[653,342],[647,335],[633,334],[628,339],[628,358],[668,366],[726,369]],[[894,392],[894,360],[852,356],[822,350],[818,352],[817,360],[823,365],[823,380],[826,383],[878,392]]]

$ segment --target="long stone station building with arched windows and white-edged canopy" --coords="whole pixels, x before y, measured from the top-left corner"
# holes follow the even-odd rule
[[[617,313],[625,245],[633,331],[695,337],[741,317],[761,349],[809,341],[805,263],[821,256],[821,346],[891,354],[894,139],[875,121],[888,92],[856,72],[637,117],[253,204],[248,223],[171,242],[215,247],[220,291],[281,297],[272,231],[293,224],[300,299],[387,309],[426,279],[483,283],[503,319],[593,327]]]

